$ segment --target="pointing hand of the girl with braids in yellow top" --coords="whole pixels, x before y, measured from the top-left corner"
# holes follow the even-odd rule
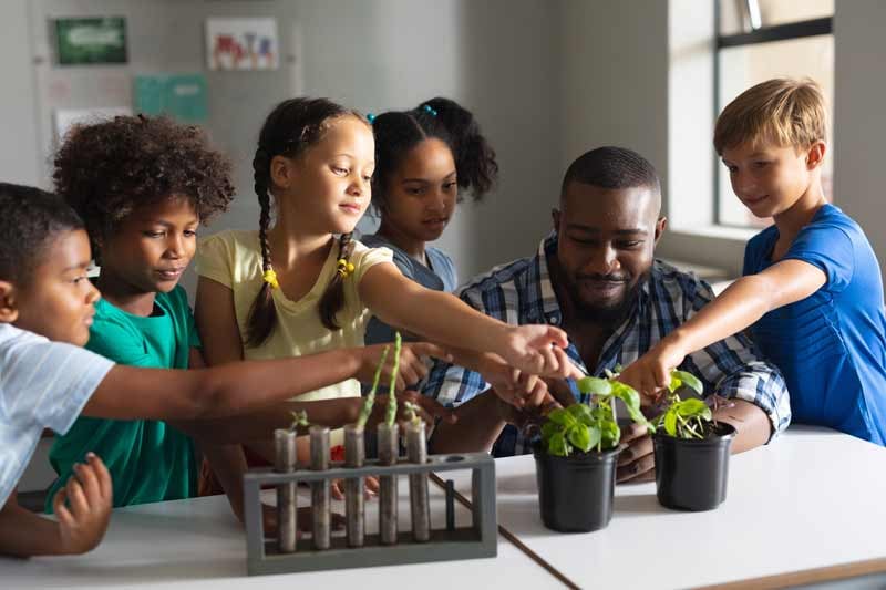
[[[501,350],[493,351],[515,369],[556,379],[580,379],[585,374],[573,364],[564,350],[569,345],[566,332],[553,325],[512,325]]]

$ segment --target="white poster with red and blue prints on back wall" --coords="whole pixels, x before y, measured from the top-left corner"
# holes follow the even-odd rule
[[[207,19],[206,59],[209,70],[276,70],[277,19]]]

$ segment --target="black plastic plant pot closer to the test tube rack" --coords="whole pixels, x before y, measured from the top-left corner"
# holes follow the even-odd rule
[[[559,532],[590,532],[612,518],[616,459],[620,447],[568,457],[535,447],[535,473],[542,521]]]

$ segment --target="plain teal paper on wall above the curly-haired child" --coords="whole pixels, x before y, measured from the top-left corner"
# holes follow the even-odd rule
[[[182,123],[206,121],[206,76],[203,74],[137,75],[133,94],[136,113],[169,115]]]

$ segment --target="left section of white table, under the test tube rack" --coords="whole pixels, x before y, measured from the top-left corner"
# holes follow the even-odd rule
[[[406,478],[400,478],[406,486]],[[431,515],[443,528],[442,491],[431,489]],[[272,501],[272,493],[265,493]],[[468,525],[470,513],[456,503],[456,525]],[[344,514],[343,503],[333,509]],[[401,501],[401,530],[409,527],[409,504]],[[378,531],[378,501],[367,501],[367,532]],[[0,557],[0,588],[187,588],[250,589],[492,587],[562,588],[550,573],[499,537],[498,557],[395,567],[255,576],[246,573],[246,534],[224,496],[193,498],[114,510],[102,544],[91,553],[16,560]]]

